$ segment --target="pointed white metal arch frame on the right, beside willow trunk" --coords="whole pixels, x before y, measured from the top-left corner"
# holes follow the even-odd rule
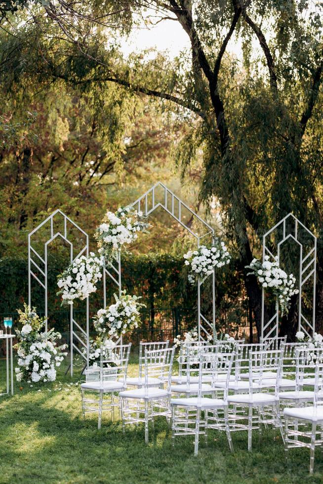
[[[286,231],[286,222],[292,218],[293,232]],[[312,248],[309,248],[307,253],[304,253],[304,244],[299,240],[299,227],[304,229],[310,236],[312,241]],[[274,227],[272,227],[266,234],[263,235],[262,241],[262,260],[264,262],[265,255],[269,255],[270,258],[275,260],[275,253],[268,248],[267,241],[271,234],[276,230],[282,230],[282,239],[276,245],[278,263],[280,263],[281,246],[288,239],[293,240],[299,246],[299,281],[298,281],[298,331],[304,331],[307,336],[313,336],[315,332],[315,286],[316,286],[316,255],[317,255],[317,238],[315,235],[305,227],[292,213],[288,213],[280,220]],[[307,274],[306,274],[307,273]],[[313,276],[313,297],[312,297],[312,322],[309,322],[302,311],[302,290],[305,283],[310,282],[310,278]],[[262,338],[278,337],[279,334],[279,303],[276,301],[275,313],[269,319],[268,322],[264,322],[264,309],[265,309],[265,291],[262,288],[261,295],[261,336]]]

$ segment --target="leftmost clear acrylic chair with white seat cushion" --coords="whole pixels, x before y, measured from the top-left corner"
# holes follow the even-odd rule
[[[116,393],[126,388],[126,373],[131,343],[101,347],[100,365],[87,369],[86,382],[81,384],[82,416],[98,413],[98,429],[101,428],[102,412],[110,410],[114,418]],[[98,398],[86,397],[86,393],[97,394]]]

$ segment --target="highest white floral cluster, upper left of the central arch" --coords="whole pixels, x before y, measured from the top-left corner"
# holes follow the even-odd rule
[[[99,253],[107,261],[122,245],[134,242],[139,232],[146,232],[149,224],[143,219],[143,213],[131,206],[118,208],[117,212],[107,212],[94,234],[98,242]]]

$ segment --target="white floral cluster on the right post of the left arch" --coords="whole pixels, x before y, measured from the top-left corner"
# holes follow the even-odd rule
[[[73,304],[74,299],[85,299],[96,291],[96,283],[102,278],[103,259],[82,255],[73,261],[65,271],[58,276],[57,285],[62,296],[62,304]]]

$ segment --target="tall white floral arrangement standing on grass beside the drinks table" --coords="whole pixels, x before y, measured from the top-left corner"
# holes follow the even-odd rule
[[[36,308],[31,309],[25,304],[24,311],[18,310],[18,314],[22,328],[16,329],[18,343],[14,346],[19,357],[15,368],[17,381],[54,381],[56,367],[67,355],[63,352],[66,345],[57,346],[61,334],[54,332],[54,328],[42,331],[45,319],[37,315]]]

